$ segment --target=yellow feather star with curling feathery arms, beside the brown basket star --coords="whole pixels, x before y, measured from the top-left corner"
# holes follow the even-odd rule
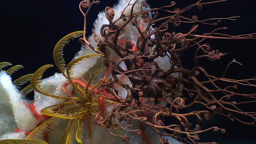
[[[45,133],[49,132],[53,126],[59,124],[60,119],[69,119],[69,124],[63,134],[61,143],[73,143],[73,140],[77,140],[78,142],[82,143],[84,119],[88,120],[87,129],[90,132],[89,135],[91,138],[90,116],[95,111],[97,111],[98,105],[98,98],[95,96],[95,92],[93,92],[93,90],[99,86],[100,83],[107,82],[108,79],[92,84],[93,80],[96,79],[97,76],[104,70],[105,65],[102,64],[96,71],[93,72],[92,75],[90,72],[90,79],[88,82],[86,82],[84,77],[80,75],[80,79],[82,79],[83,83],[85,84],[84,86],[81,86],[75,82],[77,78],[74,76],[74,70],[77,65],[83,63],[87,59],[102,57],[101,54],[87,54],[72,60],[66,66],[62,56],[64,45],[67,44],[71,39],[81,36],[82,34],[83,31],[76,31],[68,34],[67,36],[64,36],[56,44],[53,52],[53,58],[56,66],[59,68],[62,75],[68,80],[68,83],[72,85],[73,90],[76,92],[75,97],[63,97],[60,95],[55,95],[48,91],[47,88],[41,84],[41,78],[44,71],[53,65],[42,66],[32,76],[31,85],[36,92],[54,99],[63,99],[64,102],[48,106],[41,110],[42,114],[52,117],[45,121],[43,124],[36,127],[36,129],[28,135],[27,140],[42,139]]]

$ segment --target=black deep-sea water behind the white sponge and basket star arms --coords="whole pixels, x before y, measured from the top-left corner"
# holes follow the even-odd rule
[[[13,79],[20,76],[34,73],[38,68],[45,64],[53,64],[52,52],[55,44],[65,35],[83,30],[83,16],[78,9],[79,0],[54,0],[54,1],[4,1],[1,2],[1,50],[0,62],[7,61],[13,65],[23,65],[25,68],[20,69],[13,75]],[[177,5],[174,7],[184,8],[189,4],[195,3],[195,0],[176,0]],[[208,2],[208,1],[203,1]],[[106,6],[113,6],[117,0],[102,0],[100,4],[93,5],[87,17],[87,36],[91,34],[92,24],[97,18],[97,14],[103,11]],[[149,0],[148,4],[156,8],[170,1]],[[198,16],[198,20],[209,18],[227,18],[231,16],[240,16],[237,20],[222,20],[217,26],[199,24],[196,34],[210,32],[215,28],[225,27],[228,29],[220,31],[230,35],[249,34],[256,32],[255,10],[256,2],[254,0],[230,0],[216,4],[204,5],[202,10],[192,8],[183,15],[191,18],[193,15]],[[173,8],[168,8],[173,10]],[[159,11],[160,12],[160,11]],[[158,18],[166,16],[160,12]],[[215,21],[212,21],[215,22]],[[161,23],[157,23],[161,24]],[[157,25],[156,24],[156,25]],[[195,24],[181,24],[177,28],[169,25],[169,31],[172,33],[186,33]],[[220,60],[214,62],[207,59],[200,61],[200,66],[204,67],[209,74],[221,76],[229,62],[234,58],[241,62],[243,66],[232,64],[227,71],[228,78],[245,79],[255,77],[255,56],[256,40],[219,40],[207,39],[205,43],[210,43],[213,49],[219,49],[221,52],[228,52]],[[66,62],[71,61],[75,53],[80,50],[81,44],[75,39],[64,49],[64,58]],[[182,66],[192,68],[194,61],[195,49],[190,49],[180,53]],[[57,67],[47,71],[45,77],[59,72]],[[238,87],[239,88],[239,87]],[[248,93],[255,93],[255,88],[244,89]],[[33,94],[32,94],[33,95]],[[31,96],[32,96],[31,95]],[[248,106],[255,111],[255,106]],[[213,118],[214,119],[214,118]],[[227,128],[227,133],[218,135],[220,132],[211,132],[210,135],[201,136],[204,141],[216,140],[217,143],[256,143],[255,126],[245,126],[240,123],[232,122],[224,118],[215,118],[209,126],[222,124]],[[208,122],[209,123],[209,122]],[[213,124],[213,125],[214,125]],[[217,134],[216,134],[217,133]],[[222,141],[221,141],[222,140]],[[225,141],[228,140],[228,141]],[[238,141],[247,140],[247,141]]]

